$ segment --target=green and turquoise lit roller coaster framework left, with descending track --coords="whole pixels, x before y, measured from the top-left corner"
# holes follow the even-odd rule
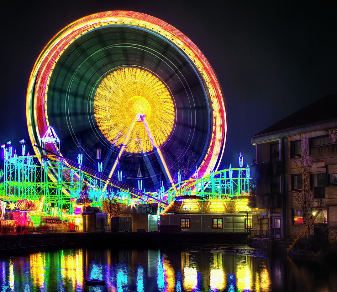
[[[106,180],[101,179],[96,172],[88,173],[87,169],[83,170],[69,163],[69,160],[57,154],[7,155],[4,169],[6,196],[13,202],[39,200],[44,197],[42,212],[50,216],[61,216],[62,209],[66,209],[66,213],[73,213],[74,202],[80,197],[81,187],[86,183],[90,206],[102,207],[103,199],[107,195],[107,191],[102,191]],[[48,174],[53,174],[52,178]],[[142,192],[137,195],[125,186],[113,183],[109,185],[110,195],[121,203],[129,204],[135,199],[142,203],[153,201],[153,198],[144,196]]]

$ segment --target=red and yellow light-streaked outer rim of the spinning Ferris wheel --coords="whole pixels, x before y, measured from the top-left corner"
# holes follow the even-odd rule
[[[217,169],[223,154],[227,123],[224,99],[215,73],[206,57],[183,33],[158,18],[132,11],[108,11],[83,17],[62,29],[44,47],[31,72],[27,90],[27,124],[32,143],[40,144],[40,137],[48,129],[48,85],[53,69],[62,53],[73,41],[85,33],[114,25],[142,28],[166,39],[179,49],[200,72],[206,84],[204,88],[208,90],[212,101],[210,111],[213,112],[213,123],[211,121],[212,133],[208,150],[197,167],[198,176],[206,176],[211,170]],[[36,155],[40,155],[38,148],[34,150]]]

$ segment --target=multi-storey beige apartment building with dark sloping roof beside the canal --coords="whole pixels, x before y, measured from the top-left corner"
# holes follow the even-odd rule
[[[337,227],[337,95],[327,95],[254,135],[254,205],[269,210],[270,238],[294,238],[310,216]]]

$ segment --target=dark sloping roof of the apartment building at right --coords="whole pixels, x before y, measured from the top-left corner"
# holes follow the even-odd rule
[[[277,131],[337,119],[337,94],[326,95],[274,125],[255,134],[265,135]]]

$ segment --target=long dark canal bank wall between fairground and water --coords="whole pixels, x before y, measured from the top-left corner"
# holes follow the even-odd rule
[[[247,233],[36,233],[0,237],[0,252],[48,246],[175,248],[181,245],[245,243]]]

